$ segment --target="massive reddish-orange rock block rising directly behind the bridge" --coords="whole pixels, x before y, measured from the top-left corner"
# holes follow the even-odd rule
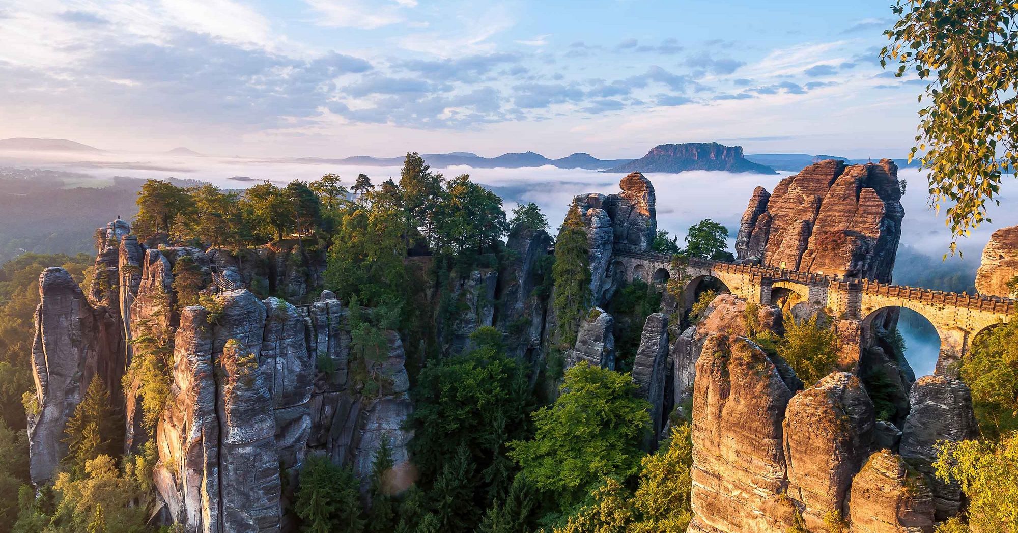
[[[783,179],[770,197],[754,191],[739,229],[738,258],[890,282],[905,215],[900,199],[891,160],[810,165]]]

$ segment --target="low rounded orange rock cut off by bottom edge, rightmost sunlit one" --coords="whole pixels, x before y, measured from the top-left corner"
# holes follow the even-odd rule
[[[869,457],[852,480],[854,533],[931,533],[934,496],[926,479],[887,450]]]

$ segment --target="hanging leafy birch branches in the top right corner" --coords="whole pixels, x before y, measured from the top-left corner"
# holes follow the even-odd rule
[[[958,237],[988,222],[986,201],[999,202],[1002,176],[1018,165],[1018,5],[899,0],[892,10],[899,19],[881,64],[927,80],[909,159],[921,153],[931,203],[948,205],[954,252]]]

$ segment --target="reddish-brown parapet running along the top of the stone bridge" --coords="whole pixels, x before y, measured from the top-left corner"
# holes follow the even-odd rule
[[[615,252],[619,255],[637,259],[646,259],[655,262],[667,262],[669,264],[674,258],[673,255],[668,253],[643,251],[634,246],[625,245],[617,245]],[[879,296],[904,298],[921,303],[952,305],[980,311],[1011,314],[1018,309],[1018,302],[1014,299],[1002,298],[999,296],[982,296],[970,295],[966,293],[959,294],[954,292],[935,291],[932,289],[925,289],[922,287],[893,285],[870,280],[845,279],[825,274],[804,273],[790,271],[788,269],[775,269],[774,266],[759,264],[736,264],[732,262],[713,261],[696,257],[685,259],[685,263],[686,265],[695,269],[749,275],[754,280],[768,278],[773,281],[791,281],[801,283],[803,285],[834,287],[838,290],[859,291]]]

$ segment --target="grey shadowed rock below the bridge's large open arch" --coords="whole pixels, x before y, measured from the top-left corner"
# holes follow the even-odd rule
[[[979,434],[972,414],[972,394],[959,379],[924,375],[912,386],[909,403],[911,411],[902,427],[901,457],[932,477],[930,465],[937,460],[938,441],[964,440]],[[957,483],[934,478],[932,490],[938,520],[958,513],[962,494]]]

